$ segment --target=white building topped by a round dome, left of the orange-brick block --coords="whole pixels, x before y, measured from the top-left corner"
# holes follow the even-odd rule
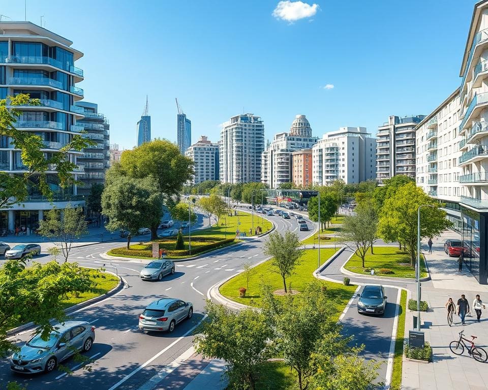
[[[292,181],[292,152],[310,149],[317,142],[312,137],[312,128],[305,115],[297,115],[290,133],[276,134],[273,142],[267,145],[261,158],[261,181],[269,188],[278,188],[282,183]]]

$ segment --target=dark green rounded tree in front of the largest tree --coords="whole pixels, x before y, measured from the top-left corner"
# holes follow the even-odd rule
[[[117,166],[112,168],[102,194],[102,210],[109,218],[109,231],[124,229],[129,233],[129,249],[131,237],[140,228],[159,223],[160,214],[155,210],[162,210],[162,197],[152,178],[135,180],[119,175]]]

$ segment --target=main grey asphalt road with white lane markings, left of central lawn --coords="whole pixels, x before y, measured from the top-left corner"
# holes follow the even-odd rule
[[[259,214],[258,214],[259,215]],[[276,224],[277,231],[296,231],[300,238],[311,232],[300,232],[294,218],[268,217]],[[225,248],[216,254],[176,263],[176,272],[161,282],[143,282],[139,272],[144,264],[134,261],[107,261],[100,253],[120,246],[120,242],[100,243],[73,248],[70,261],[84,267],[98,268],[105,265],[108,271],[123,276],[129,286],[115,296],[75,312],[72,318],[93,323],[96,339],[87,356],[94,360],[92,372],[87,372],[72,360],[64,364],[73,370],[71,375],[60,371],[50,374],[24,376],[10,371],[8,361],[0,361],[0,383],[18,381],[29,390],[139,389],[151,377],[192,346],[191,332],[203,317],[207,290],[217,282],[236,274],[243,263],[257,263],[264,258],[263,238]],[[36,261],[48,261],[40,256]],[[194,316],[181,322],[172,334],[140,333],[138,317],[143,308],[161,297],[175,297],[194,304]],[[17,335],[26,341],[31,332]]]

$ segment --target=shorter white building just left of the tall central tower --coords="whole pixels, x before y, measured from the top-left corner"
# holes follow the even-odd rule
[[[211,143],[206,136],[201,136],[187,149],[185,154],[194,163],[193,184],[199,184],[205,180],[219,180],[219,144]]]

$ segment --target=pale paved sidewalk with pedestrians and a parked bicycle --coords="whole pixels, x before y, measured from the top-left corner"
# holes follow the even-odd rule
[[[449,343],[459,339],[459,332],[465,331],[465,336],[478,336],[476,344],[486,347],[488,344],[488,310],[483,310],[481,322],[473,317],[466,318],[466,325],[454,315],[452,327],[447,324],[447,312],[444,307],[451,297],[454,302],[465,294],[471,306],[476,294],[488,304],[488,286],[480,285],[476,278],[466,268],[462,273],[457,272],[457,258],[448,257],[444,252],[444,241],[455,237],[455,233],[448,232],[439,239],[434,239],[433,253],[428,253],[426,243],[422,245],[429,265],[432,280],[422,283],[421,300],[429,304],[428,312],[421,312],[421,331],[425,341],[433,350],[433,363],[422,364],[403,361],[402,389],[403,390],[481,390],[488,388],[488,364],[478,363],[465,351],[464,355],[456,356],[449,349]],[[412,291],[412,298],[416,298],[416,290]],[[413,330],[413,315],[416,312],[407,310],[405,319],[405,338],[408,331]]]

